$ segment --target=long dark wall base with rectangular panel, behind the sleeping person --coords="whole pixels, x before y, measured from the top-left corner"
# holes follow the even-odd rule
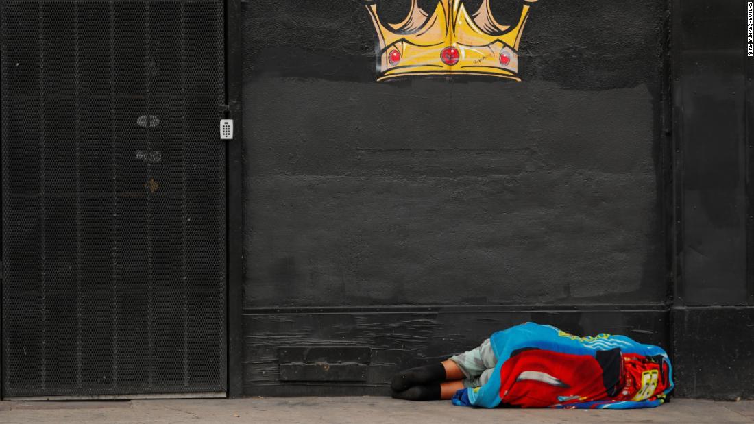
[[[442,361],[527,321],[667,348],[668,314],[655,305],[247,309],[244,394],[388,395],[396,371]],[[296,375],[306,380],[291,380]]]

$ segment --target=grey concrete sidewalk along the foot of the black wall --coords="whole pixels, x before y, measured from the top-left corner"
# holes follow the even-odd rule
[[[0,422],[754,422],[754,401],[674,399],[646,410],[480,410],[391,398],[0,402]]]

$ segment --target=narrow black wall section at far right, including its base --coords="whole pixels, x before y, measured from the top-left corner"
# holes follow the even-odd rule
[[[672,336],[682,396],[754,396],[754,58],[746,56],[747,3],[673,4]]]

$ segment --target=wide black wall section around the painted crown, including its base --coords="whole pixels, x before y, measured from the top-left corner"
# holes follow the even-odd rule
[[[385,393],[526,320],[668,345],[665,2],[541,0],[522,82],[375,82],[355,0],[243,13],[245,393]]]

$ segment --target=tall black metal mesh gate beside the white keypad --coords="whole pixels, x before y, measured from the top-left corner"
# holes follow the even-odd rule
[[[222,0],[0,0],[5,397],[225,392]]]

